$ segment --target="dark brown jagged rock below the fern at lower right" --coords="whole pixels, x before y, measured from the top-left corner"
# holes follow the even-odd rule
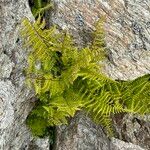
[[[150,116],[116,115],[113,120],[117,138],[150,149]]]

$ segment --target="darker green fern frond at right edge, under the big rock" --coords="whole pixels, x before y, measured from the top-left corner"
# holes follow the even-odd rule
[[[123,91],[123,100],[127,112],[146,114],[150,113],[150,75],[139,77],[127,83]]]

